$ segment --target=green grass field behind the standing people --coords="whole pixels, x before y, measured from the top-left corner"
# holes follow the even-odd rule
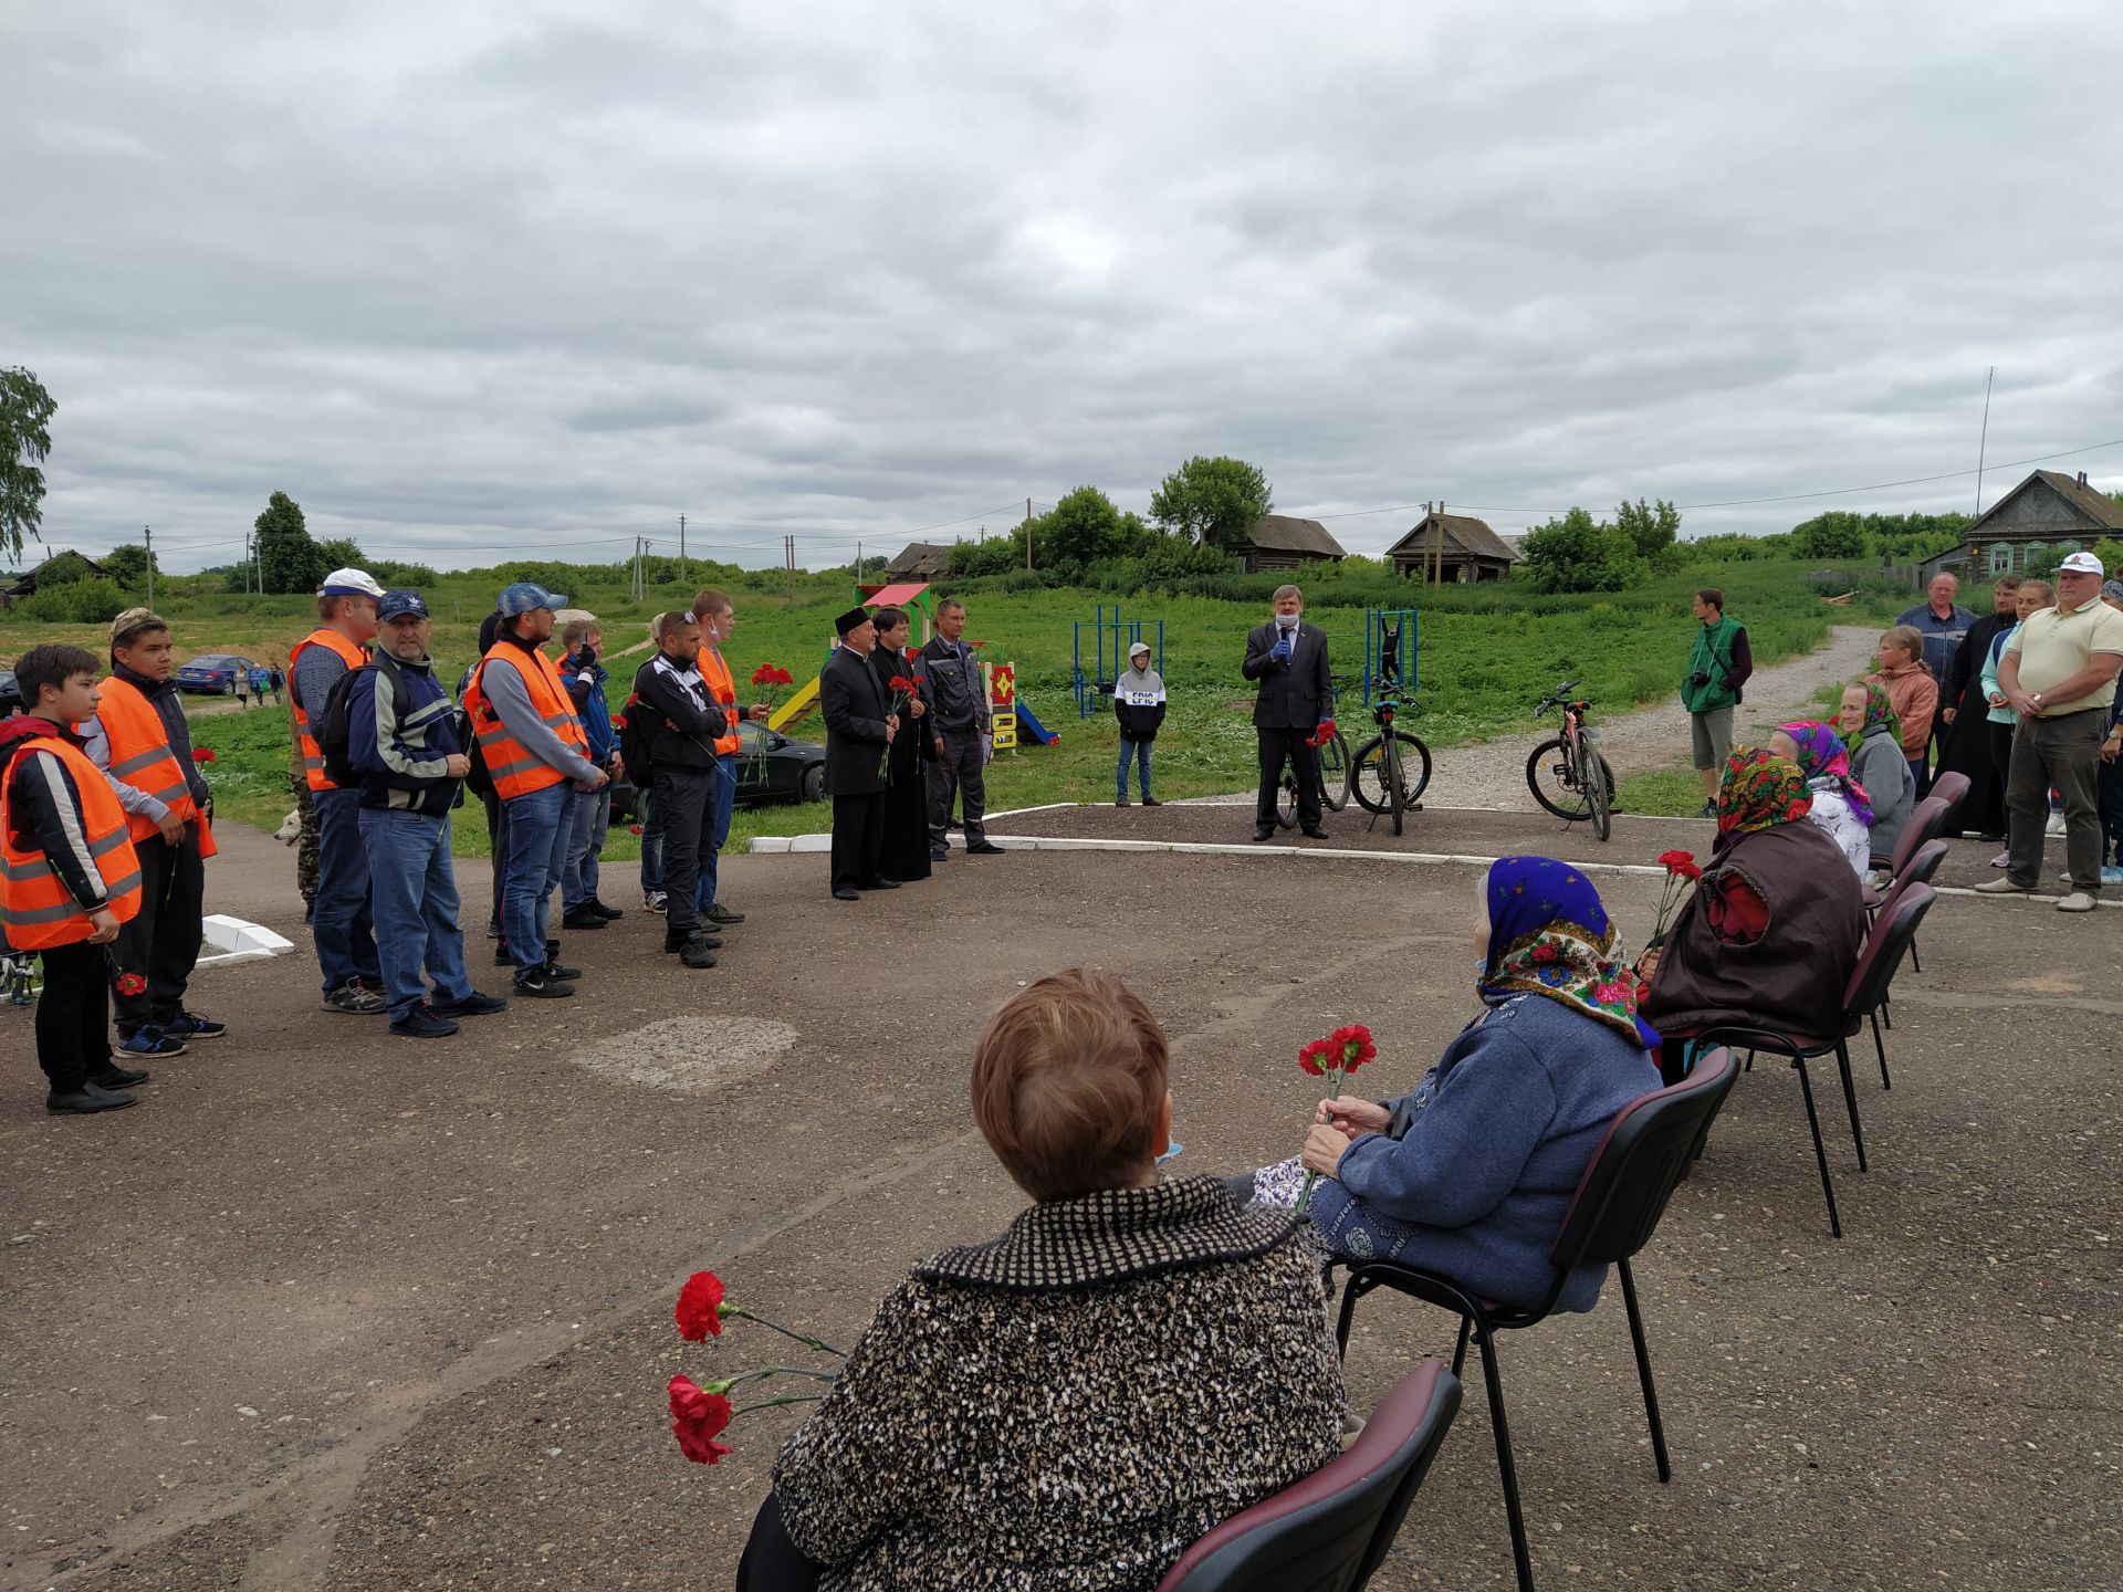
[[[1885,620],[1902,605],[1904,590],[1862,590],[1847,607],[1828,607],[1794,565],[1734,565],[1720,571],[1690,571],[1650,582],[1611,596],[1535,596],[1505,582],[1499,586],[1408,588],[1418,609],[1418,664],[1412,707],[1403,722],[1433,747],[1450,747],[1497,732],[1522,730],[1535,737],[1533,705],[1563,677],[1577,677],[1601,709],[1622,711],[1677,690],[1694,620],[1690,590],[1705,579],[1724,584],[1734,618],[1747,624],[1758,662],[1775,662],[1807,652],[1828,635],[1830,624]],[[200,652],[242,652],[284,658],[301,639],[308,603],[293,596],[229,596],[221,592],[161,601],[176,633],[178,658]],[[732,592],[737,635],[730,662],[743,683],[762,662],[775,662],[807,681],[817,673],[832,635],[832,616],[851,599],[851,588],[824,577],[805,577],[794,601],[783,594]],[[607,654],[622,654],[643,641],[650,616],[677,607],[690,592],[652,592],[631,601],[620,590],[569,592],[580,607],[605,624]],[[435,656],[454,683],[471,662],[478,622],[493,592],[467,577],[444,577],[429,601],[437,613]],[[1089,633],[1093,607],[1115,605],[1110,592],[1078,590],[970,590],[968,639],[985,641],[987,660],[1017,664],[1021,696],[1059,732],[1057,747],[1025,745],[998,754],[989,771],[989,807],[1034,807],[1057,800],[1110,800],[1119,734],[1108,707],[1089,720],[1076,717],[1070,696],[1070,633],[1081,620]],[[1210,796],[1253,785],[1255,749],[1248,722],[1250,688],[1238,673],[1246,630],[1265,618],[1253,603],[1206,596],[1121,599],[1125,618],[1144,620],[1155,643],[1163,620],[1163,675],[1172,709],[1157,739],[1157,794]],[[1333,669],[1357,677],[1363,669],[1365,611],[1361,607],[1308,609],[1308,620],[1327,630]],[[38,624],[0,616],[0,658],[13,660],[38,641],[74,641],[104,652],[100,626]],[[1108,645],[1110,652],[1110,645]],[[1089,635],[1085,639],[1089,656]],[[626,696],[633,669],[645,658],[611,656],[614,707]],[[1089,673],[1089,662],[1085,664]],[[1110,669],[1108,669],[1110,673]],[[210,779],[221,815],[261,828],[276,828],[289,811],[287,788],[289,713],[284,707],[231,711],[195,698],[193,741],[214,751]],[[1361,696],[1344,698],[1342,728],[1350,743],[1369,732]],[[794,726],[805,739],[824,739],[813,715]],[[1671,785],[1671,790],[1669,790]],[[1450,800],[1448,777],[1439,777],[1437,798]],[[1690,790],[1698,792],[1690,781]],[[1622,792],[1628,811],[1692,811],[1690,790],[1662,773],[1641,775]],[[739,813],[732,841],[754,834],[796,834],[824,828],[824,807],[771,807]],[[459,824],[456,847],[478,855],[486,845],[484,826]],[[607,855],[637,853],[633,836],[611,836]]]

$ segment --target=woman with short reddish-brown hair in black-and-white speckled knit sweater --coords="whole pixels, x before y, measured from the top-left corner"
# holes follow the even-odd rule
[[[741,1592],[1149,1592],[1340,1452],[1323,1257],[1221,1178],[1159,1182],[1166,1036],[1125,985],[1011,1000],[972,1112],[1036,1204],[885,1299],[775,1460]]]

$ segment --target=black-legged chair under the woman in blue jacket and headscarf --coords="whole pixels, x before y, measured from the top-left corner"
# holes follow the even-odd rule
[[[1374,1288],[1408,1293],[1425,1303],[1454,1310],[1461,1318],[1459,1348],[1452,1371],[1467,1361],[1467,1339],[1482,1348],[1482,1380],[1488,1386],[1488,1418],[1497,1433],[1497,1471],[1503,1479],[1503,1511],[1512,1522],[1512,1560],[1518,1567],[1520,1592],[1533,1592],[1533,1560],[1526,1554],[1526,1522],[1518,1507],[1518,1469],[1512,1465],[1512,1431],[1503,1414],[1503,1380],[1497,1373],[1497,1333],[1533,1327],[1556,1308],[1563,1286],[1580,1265],[1613,1265],[1622,1276],[1622,1303],[1628,1308],[1628,1339],[1637,1350],[1637,1380],[1643,1384],[1643,1414],[1652,1424],[1652,1450],[1658,1456],[1658,1479],[1673,1479],[1667,1460],[1667,1431],[1658,1420],[1658,1386],[1652,1382],[1652,1354],[1643,1344],[1643,1312],[1637,1308],[1637,1278],[1628,1269],[1673,1197],[1675,1184],[1688,1176],[1696,1146],[1711,1119],[1732,1091],[1739,1072],[1730,1051],[1711,1051],[1681,1083],[1630,1102],[1607,1127],[1607,1138],[1592,1150],[1577,1193],[1563,1212],[1548,1261],[1556,1269],[1554,1286],[1533,1310],[1480,1299],[1465,1284],[1397,1261],[1340,1261],[1348,1265],[1342,1288],[1342,1318],[1335,1339],[1348,1352],[1348,1329],[1357,1301]]]

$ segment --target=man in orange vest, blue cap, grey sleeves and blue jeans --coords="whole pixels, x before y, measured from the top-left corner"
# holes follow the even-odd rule
[[[546,928],[575,838],[575,802],[609,777],[590,762],[573,698],[546,656],[552,611],[567,607],[567,596],[516,582],[495,607],[501,626],[465,688],[465,713],[507,809],[501,938],[516,964],[518,996],[573,996],[582,972],[560,966],[560,945],[546,938]]]

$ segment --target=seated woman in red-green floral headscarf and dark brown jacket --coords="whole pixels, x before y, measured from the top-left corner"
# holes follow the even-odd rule
[[[1724,1023],[1826,1038],[1864,947],[1864,896],[1843,851],[1807,824],[1813,792],[1771,751],[1726,758],[1718,843],[1694,892],[1645,957],[1643,1017],[1664,1036],[1660,1068]]]

